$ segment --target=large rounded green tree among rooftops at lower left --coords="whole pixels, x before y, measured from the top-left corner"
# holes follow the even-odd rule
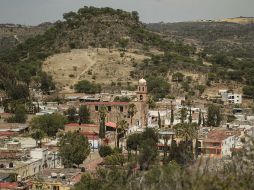
[[[68,132],[60,140],[59,153],[65,167],[70,168],[73,164],[79,166],[90,153],[87,137],[78,132]]]

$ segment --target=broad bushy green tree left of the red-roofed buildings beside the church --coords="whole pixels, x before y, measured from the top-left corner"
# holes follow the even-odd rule
[[[29,126],[32,130],[40,129],[47,136],[55,137],[59,130],[64,129],[66,118],[58,113],[34,117]]]

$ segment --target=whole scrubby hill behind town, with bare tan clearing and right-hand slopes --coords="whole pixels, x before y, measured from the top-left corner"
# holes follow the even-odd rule
[[[145,25],[137,12],[95,7],[63,18],[42,35],[0,52],[1,89],[10,93],[24,84],[43,93],[55,87],[73,91],[85,79],[111,91],[145,77],[156,99],[169,92],[170,97],[197,97],[222,83],[236,91],[248,85],[246,94],[254,95],[253,25]]]

